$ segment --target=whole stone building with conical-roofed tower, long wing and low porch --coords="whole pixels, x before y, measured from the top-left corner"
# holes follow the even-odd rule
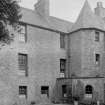
[[[21,8],[14,41],[0,50],[0,103],[105,101],[105,8],[88,1],[75,23],[50,16],[49,0]]]

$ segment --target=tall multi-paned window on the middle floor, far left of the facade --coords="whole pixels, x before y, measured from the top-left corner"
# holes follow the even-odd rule
[[[18,62],[19,62],[19,70],[22,72],[25,76],[28,76],[28,70],[27,70],[27,54],[18,54]]]

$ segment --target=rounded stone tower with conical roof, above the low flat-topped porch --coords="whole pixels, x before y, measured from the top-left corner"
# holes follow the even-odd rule
[[[70,76],[101,75],[104,52],[103,20],[96,16],[86,0],[70,35]]]

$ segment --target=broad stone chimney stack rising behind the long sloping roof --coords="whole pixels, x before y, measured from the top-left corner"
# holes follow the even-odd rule
[[[35,10],[44,17],[49,16],[49,0],[38,0]]]

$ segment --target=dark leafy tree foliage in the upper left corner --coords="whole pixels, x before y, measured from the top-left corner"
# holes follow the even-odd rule
[[[16,0],[0,0],[0,41],[9,44],[13,40],[7,25],[16,28],[20,14],[20,7]]]

